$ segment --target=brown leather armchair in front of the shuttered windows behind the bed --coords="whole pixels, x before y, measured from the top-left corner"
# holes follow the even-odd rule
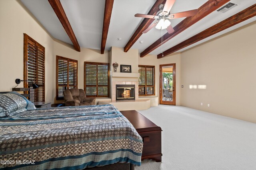
[[[83,89],[71,88],[63,92],[65,106],[95,105],[96,98],[86,98]]]

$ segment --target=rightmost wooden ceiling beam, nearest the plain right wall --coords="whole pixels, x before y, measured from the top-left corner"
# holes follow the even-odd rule
[[[242,10],[241,12],[238,12],[237,14],[231,16],[230,18],[227,18],[226,20],[223,20],[213,25],[208,29],[205,29],[204,31],[194,35],[193,37],[190,37],[189,39],[183,41],[182,43],[179,43],[178,45],[175,45],[174,47],[164,51],[163,53],[164,56],[162,56],[162,53],[158,54],[157,58],[161,59],[162,57],[170,55],[180,49],[183,49],[189,45],[192,45],[198,41],[201,41],[202,39],[210,37],[211,35],[214,35],[220,31],[223,31],[224,29],[232,27],[242,21],[248,20],[254,16],[256,16],[256,4],[246,8],[245,10]]]

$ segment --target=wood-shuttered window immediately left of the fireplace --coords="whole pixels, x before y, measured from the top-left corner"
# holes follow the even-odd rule
[[[87,97],[109,96],[109,64],[84,62],[84,91]]]

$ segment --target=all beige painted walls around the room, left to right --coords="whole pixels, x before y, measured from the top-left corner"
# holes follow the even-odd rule
[[[176,63],[176,105],[256,123],[255,30],[256,21],[162,59],[156,55],[140,58],[138,50],[123,53],[122,48],[112,47],[116,57],[110,61],[110,52],[100,55],[99,50],[82,48],[78,53],[70,45],[55,41],[19,1],[0,0],[0,91],[10,91],[16,78],[23,79],[23,33],[26,33],[46,49],[46,101],[56,102],[56,55],[78,60],[78,88],[84,86],[84,61],[110,63],[111,69],[114,62],[130,64],[132,72],[138,72],[138,64],[155,65],[156,96],[159,96],[159,64]],[[189,85],[206,85],[206,89],[190,89]]]

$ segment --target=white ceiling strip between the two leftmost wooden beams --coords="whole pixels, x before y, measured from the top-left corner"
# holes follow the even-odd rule
[[[105,0],[60,0],[60,2],[80,47],[100,49]]]

